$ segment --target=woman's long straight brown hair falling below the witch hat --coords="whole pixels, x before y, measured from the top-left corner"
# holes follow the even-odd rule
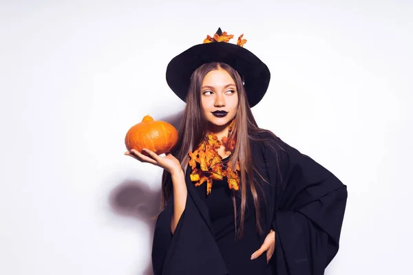
[[[264,179],[260,173],[258,173],[257,168],[251,162],[252,153],[250,148],[250,140],[262,140],[258,136],[260,133],[270,133],[274,135],[271,131],[260,129],[255,122],[251,108],[248,105],[248,100],[246,98],[246,91],[242,82],[242,78],[238,72],[233,69],[233,67],[225,63],[207,63],[201,65],[196,69],[191,77],[191,84],[189,85],[189,91],[187,94],[186,102],[187,105],[184,109],[184,115],[178,131],[178,143],[171,152],[179,161],[182,166],[184,173],[187,171],[189,162],[189,151],[193,151],[197,148],[204,139],[204,134],[207,133],[207,121],[204,119],[201,111],[201,87],[204,77],[211,71],[216,69],[224,69],[233,78],[235,86],[237,87],[238,96],[238,107],[237,114],[235,115],[235,123],[233,131],[229,135],[229,140],[235,138],[235,148],[231,153],[229,159],[232,162],[232,167],[236,166],[237,161],[240,162],[240,190],[234,191],[232,193],[233,207],[234,207],[234,223],[235,232],[237,236],[242,237],[244,232],[244,220],[245,220],[245,210],[246,210],[246,196],[247,196],[247,186],[251,189],[251,194],[253,195],[253,201],[255,206],[255,218],[256,218],[256,228],[257,232],[262,234],[264,231],[260,223],[261,213],[260,213],[260,199],[262,195],[262,188],[256,178],[253,177],[254,172],[256,175]],[[248,176],[248,184],[246,181],[246,176]],[[265,181],[265,179],[264,179]],[[241,209],[237,212],[237,207],[235,203],[235,192],[241,193]],[[172,181],[171,175],[164,170],[162,175],[162,209],[165,208],[169,197],[172,194]],[[240,225],[238,228],[238,224]]]

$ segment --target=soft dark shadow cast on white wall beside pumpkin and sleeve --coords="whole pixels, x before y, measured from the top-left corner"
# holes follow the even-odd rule
[[[160,120],[172,124],[179,129],[183,111],[170,115]],[[131,161],[136,159],[130,158]],[[145,164],[150,165],[150,164]],[[159,183],[159,186],[161,183]],[[109,194],[109,203],[117,214],[138,219],[147,223],[150,239],[153,239],[153,230],[156,223],[156,215],[160,210],[160,190],[153,191],[142,181],[127,180],[120,183]],[[151,252],[149,252],[151,254]],[[149,263],[143,275],[153,275],[152,264]]]

